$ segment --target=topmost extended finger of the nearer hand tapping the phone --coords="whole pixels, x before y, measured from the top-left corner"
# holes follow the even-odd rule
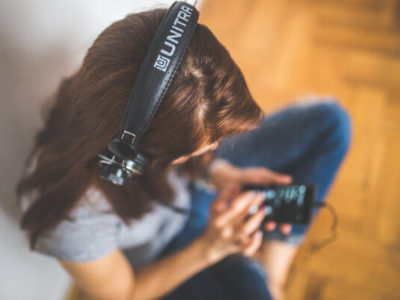
[[[258,197],[263,197],[263,195],[260,193]],[[214,224],[220,228],[226,226],[238,215],[248,209],[249,205],[257,200],[255,198],[257,198],[257,193],[254,191],[240,194],[232,201],[232,204],[226,209],[226,211],[215,216]]]

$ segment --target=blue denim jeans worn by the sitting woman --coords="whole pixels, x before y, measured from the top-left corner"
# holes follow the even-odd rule
[[[335,99],[298,101],[266,115],[256,129],[224,139],[216,155],[238,167],[263,166],[290,174],[293,183],[316,184],[316,200],[321,202],[351,139],[350,117]],[[195,184],[190,185],[190,193],[192,214],[160,257],[181,249],[206,228],[208,208],[216,193]],[[288,235],[276,229],[264,231],[263,237],[299,245],[306,232],[307,226],[295,225]],[[271,299],[266,278],[257,262],[234,254],[195,274],[160,299]]]

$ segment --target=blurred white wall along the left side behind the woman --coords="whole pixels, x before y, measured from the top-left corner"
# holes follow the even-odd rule
[[[0,2],[0,299],[63,299],[69,278],[32,253],[18,227],[14,186],[41,126],[39,106],[80,64],[94,38],[126,14],[170,0]],[[194,1],[189,1],[193,3]],[[199,5],[197,5],[199,6]]]

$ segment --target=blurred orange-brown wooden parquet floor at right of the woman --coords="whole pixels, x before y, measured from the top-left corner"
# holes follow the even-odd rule
[[[400,299],[400,1],[205,0],[206,24],[241,67],[265,110],[335,95],[353,145],[287,283],[295,299]]]

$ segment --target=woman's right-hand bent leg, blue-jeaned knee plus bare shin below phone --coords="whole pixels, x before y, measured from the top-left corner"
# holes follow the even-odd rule
[[[298,103],[267,116],[259,128],[225,140],[218,156],[240,167],[264,166],[288,173],[294,183],[316,183],[317,201],[323,201],[350,139],[350,119],[336,101]],[[287,236],[279,230],[264,232],[258,259],[268,270],[275,299],[282,299],[288,268],[306,229],[294,226]]]

